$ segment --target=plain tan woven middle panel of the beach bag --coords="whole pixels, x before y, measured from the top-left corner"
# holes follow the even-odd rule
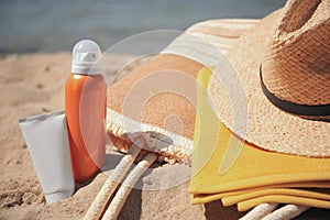
[[[183,56],[158,55],[110,88],[109,107],[135,121],[193,140],[196,98],[189,95],[196,94],[194,79],[200,68],[201,64]]]

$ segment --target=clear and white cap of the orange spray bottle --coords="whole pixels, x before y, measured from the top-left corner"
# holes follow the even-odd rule
[[[82,75],[101,74],[101,50],[90,40],[79,41],[73,50],[72,73]]]

